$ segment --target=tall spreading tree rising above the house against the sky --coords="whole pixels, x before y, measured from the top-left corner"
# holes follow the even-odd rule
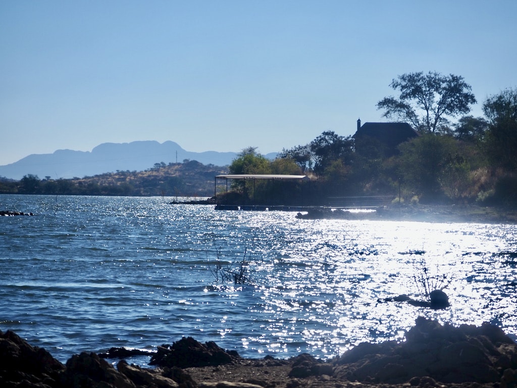
[[[399,98],[385,97],[377,102],[384,117],[410,122],[420,132],[438,132],[449,117],[466,114],[476,103],[472,87],[463,77],[437,72],[414,72],[393,79],[390,86],[400,91]]]

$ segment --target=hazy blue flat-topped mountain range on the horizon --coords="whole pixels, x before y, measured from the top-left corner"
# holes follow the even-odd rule
[[[0,176],[20,180],[24,175],[73,178],[105,172],[143,171],[155,163],[197,160],[204,165],[226,166],[236,158],[235,152],[189,152],[173,141],[134,141],[131,143],[102,143],[90,151],[57,150],[53,154],[33,154],[17,162],[0,166]],[[264,155],[274,159],[277,154]]]

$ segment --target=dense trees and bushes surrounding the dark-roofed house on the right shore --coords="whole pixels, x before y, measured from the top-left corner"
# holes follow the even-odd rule
[[[483,103],[484,117],[468,115],[476,102],[462,77],[436,72],[403,74],[390,86],[398,97],[377,103],[384,116],[410,123],[419,136],[395,155],[372,141],[325,131],[269,161],[250,147],[232,174],[307,174],[309,182],[234,182],[235,201],[325,204],[335,196],[390,195],[425,203],[517,203],[517,88]],[[400,198],[399,198],[400,193]]]

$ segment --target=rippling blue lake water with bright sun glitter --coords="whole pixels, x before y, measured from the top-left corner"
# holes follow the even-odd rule
[[[80,351],[156,349],[182,336],[246,357],[338,355],[402,339],[422,315],[491,322],[517,338],[517,227],[300,220],[215,211],[168,198],[0,196],[0,330],[64,362]],[[217,281],[217,263],[249,260],[253,286]],[[452,307],[417,298],[427,263]]]

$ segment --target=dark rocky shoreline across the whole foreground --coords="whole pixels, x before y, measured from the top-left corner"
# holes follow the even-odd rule
[[[111,353],[111,354],[110,354]],[[101,357],[102,355],[102,357]],[[331,360],[243,359],[215,342],[183,338],[158,347],[155,368],[129,365],[121,349],[83,352],[66,364],[16,333],[0,332],[0,386],[98,388],[501,387],[517,386],[517,344],[497,326],[442,325],[422,317],[405,341],[363,343]],[[119,359],[116,368],[103,357]],[[122,357],[122,359],[120,359]]]

